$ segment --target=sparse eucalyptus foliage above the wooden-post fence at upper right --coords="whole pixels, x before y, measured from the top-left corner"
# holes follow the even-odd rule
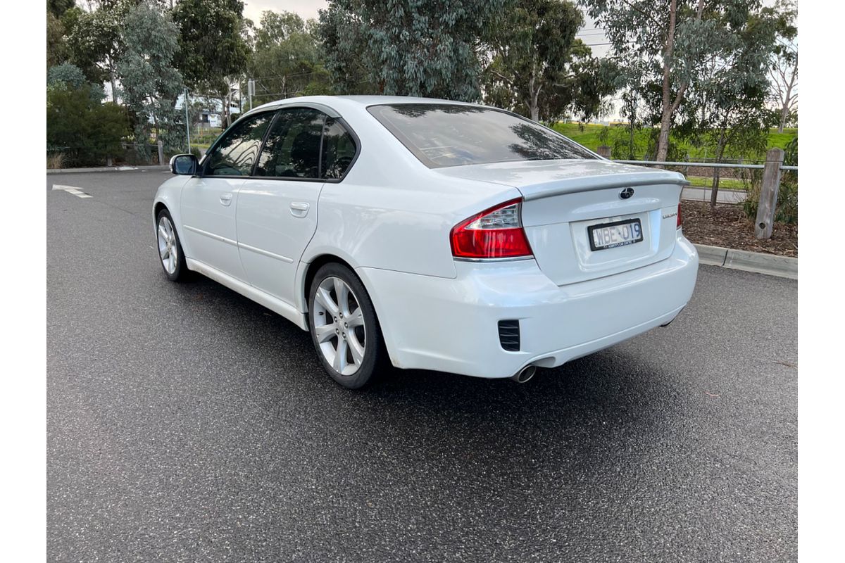
[[[761,118],[752,120],[748,115],[749,109],[760,113],[757,90],[762,89],[765,97],[765,76],[762,82],[760,76],[774,46],[774,13],[762,8],[760,0],[583,3],[613,44],[613,56],[627,69],[625,86],[641,100],[637,104],[644,114],[641,121],[659,124],[663,138],[668,139],[673,123],[682,116],[685,135],[716,129],[718,138],[711,142],[721,154],[732,143],[752,138],[747,133],[753,122],[758,132],[764,129]],[[677,7],[674,30],[673,6]],[[702,109],[705,115],[696,119]],[[737,139],[723,138],[726,131],[741,130],[744,134]],[[665,149],[658,149],[658,160]]]

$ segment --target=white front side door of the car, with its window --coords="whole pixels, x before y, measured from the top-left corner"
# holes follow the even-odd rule
[[[235,123],[212,146],[199,174],[182,191],[183,236],[195,260],[245,279],[237,252],[235,209],[275,111]]]

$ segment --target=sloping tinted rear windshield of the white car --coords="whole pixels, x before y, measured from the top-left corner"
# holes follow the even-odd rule
[[[563,135],[507,111],[456,104],[390,104],[367,109],[429,168],[596,158]]]

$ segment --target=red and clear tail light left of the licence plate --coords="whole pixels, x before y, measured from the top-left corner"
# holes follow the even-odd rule
[[[461,221],[452,229],[456,258],[514,258],[531,256],[520,219],[522,199],[511,199]]]

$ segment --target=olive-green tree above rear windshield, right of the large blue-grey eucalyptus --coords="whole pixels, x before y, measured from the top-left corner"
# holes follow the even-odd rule
[[[534,121],[553,121],[567,111],[585,119],[596,115],[613,87],[610,67],[575,39],[583,24],[581,10],[570,2],[518,0],[488,30],[485,100]]]

